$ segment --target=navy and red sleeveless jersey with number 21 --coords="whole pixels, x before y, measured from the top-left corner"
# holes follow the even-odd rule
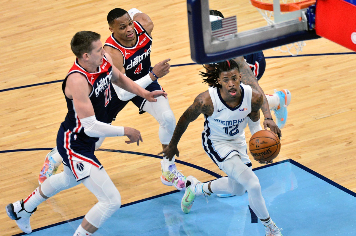
[[[96,120],[101,122],[108,121],[109,103],[111,100],[110,81],[112,76],[111,64],[106,60],[105,56],[103,64],[98,67],[98,72],[90,73],[79,65],[78,59],[75,60],[72,68],[70,68],[66,78],[62,84],[62,90],[66,88],[67,78],[72,73],[80,73],[87,78],[88,83],[92,86],[92,91],[89,94],[89,99],[93,105]],[[80,88],[78,88],[80,89]],[[63,126],[66,130],[77,135],[76,137],[82,139],[85,142],[96,142],[99,138],[89,137],[84,133],[83,126],[80,124],[80,120],[75,111],[73,99],[69,99],[64,94],[67,101],[68,113],[63,121]]]

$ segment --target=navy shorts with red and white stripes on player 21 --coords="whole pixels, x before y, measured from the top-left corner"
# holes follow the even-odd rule
[[[57,149],[63,164],[69,167],[77,181],[88,177],[91,168],[103,168],[94,155],[95,142],[85,141],[79,133],[64,128],[63,124],[57,133]]]

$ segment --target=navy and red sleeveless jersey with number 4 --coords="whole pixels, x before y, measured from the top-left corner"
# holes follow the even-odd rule
[[[119,50],[124,57],[124,69],[126,76],[133,81],[147,75],[151,66],[151,48],[152,38],[140,23],[134,21],[135,33],[137,37],[136,44],[132,47],[122,45],[114,38],[114,35],[106,39],[104,46],[109,46]]]

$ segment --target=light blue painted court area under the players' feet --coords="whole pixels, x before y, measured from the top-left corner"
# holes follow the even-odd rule
[[[269,214],[284,236],[356,235],[354,192],[293,160],[257,168],[255,173]],[[214,194],[208,203],[198,197],[189,214],[180,209],[182,196],[183,192],[174,192],[122,207],[94,235],[265,235],[260,221],[251,216],[247,193],[230,198]],[[73,235],[81,221],[31,235]]]

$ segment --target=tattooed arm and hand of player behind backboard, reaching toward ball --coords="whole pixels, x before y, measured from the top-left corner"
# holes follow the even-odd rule
[[[234,59],[237,64],[239,65],[240,68],[240,73],[241,73],[241,81],[243,84],[250,85],[253,89],[256,89],[258,92],[260,92],[263,96],[263,104],[261,107],[263,116],[265,118],[272,118],[271,112],[269,111],[269,105],[268,101],[265,95],[265,92],[263,92],[262,88],[257,82],[257,79],[255,75],[253,75],[250,66],[247,65],[246,61],[244,60],[243,56],[236,57]],[[282,136],[281,130],[278,128],[276,123],[273,122],[273,120],[265,120],[263,122],[263,126],[265,127],[265,130],[267,130],[267,127],[271,129],[272,132],[276,133],[279,137]]]

